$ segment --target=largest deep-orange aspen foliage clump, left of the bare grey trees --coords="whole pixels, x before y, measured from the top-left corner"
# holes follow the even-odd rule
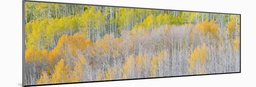
[[[56,47],[49,53],[47,60],[52,63],[53,60],[66,58],[66,54],[69,52],[72,56],[77,57],[77,51],[83,52],[85,47],[90,45],[92,42],[81,33],[75,33],[73,36],[62,35]]]

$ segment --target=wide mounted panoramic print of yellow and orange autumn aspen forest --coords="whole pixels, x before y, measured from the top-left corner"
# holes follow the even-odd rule
[[[25,85],[240,71],[240,15],[25,3]]]

